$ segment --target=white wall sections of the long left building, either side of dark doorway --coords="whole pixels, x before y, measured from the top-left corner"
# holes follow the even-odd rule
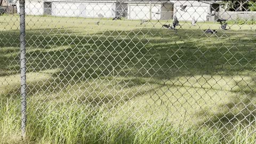
[[[113,18],[116,4],[114,2],[84,2],[84,1],[47,1],[52,3],[51,15],[59,17]],[[25,12],[30,15],[43,15],[44,2],[26,1]],[[19,7],[19,2],[17,3]],[[19,12],[19,9],[18,9]]]

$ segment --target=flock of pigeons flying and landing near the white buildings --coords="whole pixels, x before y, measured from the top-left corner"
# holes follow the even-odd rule
[[[187,5],[184,5],[184,6],[181,5],[180,7],[181,7],[180,11],[187,12],[187,10],[186,10]],[[155,14],[161,14],[161,13],[159,13],[159,12],[153,12],[153,13],[155,13]],[[211,13],[208,13],[208,14],[211,15],[211,16],[214,16],[214,15],[215,15],[215,11],[213,11],[213,12],[211,12]],[[118,17],[113,18],[112,20],[122,20],[122,19],[121,19],[120,16],[118,16]],[[226,21],[227,21],[227,20],[221,19],[221,18],[219,18],[219,19],[217,20],[217,22],[220,22],[221,28],[222,28],[223,30],[228,30],[228,29],[226,28],[227,25],[228,25]],[[142,25],[142,24],[145,23],[145,22],[148,22],[148,20],[143,20],[143,19],[142,19],[141,22],[140,22],[140,25]],[[192,22],[191,22],[192,26],[196,26],[196,22],[197,22],[197,20],[195,19],[195,17],[193,17],[193,18],[192,18]],[[97,22],[95,22],[95,25],[99,25],[99,23],[100,23],[100,21],[97,21]],[[179,21],[178,21],[178,19],[177,19],[177,17],[176,17],[175,15],[174,15],[174,19],[173,19],[172,25],[170,25],[170,24],[169,24],[169,25],[163,25],[164,28],[173,29],[173,30],[177,31],[176,26],[180,26],[180,23],[179,23]],[[206,29],[206,30],[204,30],[204,32],[205,32],[205,33],[213,34],[213,33],[217,33],[217,30]]]

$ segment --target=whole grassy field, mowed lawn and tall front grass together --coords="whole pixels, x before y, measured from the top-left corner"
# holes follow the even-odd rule
[[[255,142],[254,25],[97,21],[26,17],[21,140],[19,17],[0,17],[0,143]]]

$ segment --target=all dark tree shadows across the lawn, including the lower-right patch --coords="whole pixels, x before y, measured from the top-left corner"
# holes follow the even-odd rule
[[[18,31],[11,30],[2,31],[0,34],[6,39],[0,42],[2,45],[0,70],[3,71],[0,76],[19,73],[18,34]],[[28,72],[44,71],[43,73],[49,73],[54,77],[47,79],[47,83],[42,82],[43,86],[38,85],[37,82],[31,83],[28,94],[44,92],[49,87],[58,92],[66,85],[83,84],[94,79],[102,79],[102,81],[107,79],[106,81],[110,82],[115,81],[115,77],[119,77],[117,83],[124,83],[124,87],[128,89],[145,83],[154,84],[154,80],[172,81],[181,76],[255,77],[256,40],[251,38],[253,34],[248,34],[249,37],[239,37],[234,34],[235,32],[228,31],[225,34],[205,35],[202,30],[180,30],[175,34],[174,31],[165,29],[135,29],[104,31],[89,35],[57,28],[28,30],[26,36]],[[58,70],[52,73],[53,69]],[[150,80],[145,81],[143,78]],[[116,84],[113,85],[109,89],[115,89]],[[241,113],[220,111],[205,123],[208,125],[219,123],[223,126],[229,122],[241,122],[245,119],[247,122],[252,122],[255,106],[252,105],[251,100],[255,97],[255,90],[252,91],[242,89],[238,93],[244,93],[248,98],[219,106],[230,110],[239,106],[242,108]],[[135,95],[139,97],[147,92],[149,90]],[[109,93],[113,95],[111,91]],[[121,96],[119,98],[98,96],[96,94],[95,98],[90,100],[84,98],[81,102],[87,99],[87,102],[98,105],[100,102],[109,103],[112,102],[111,100],[122,99]],[[130,98],[124,99],[127,100]]]

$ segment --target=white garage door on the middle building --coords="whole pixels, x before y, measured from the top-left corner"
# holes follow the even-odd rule
[[[160,7],[160,5],[152,5],[151,17],[153,20],[161,18],[161,14],[156,14],[156,12],[161,13]],[[129,5],[129,19],[150,19],[149,4]]]

